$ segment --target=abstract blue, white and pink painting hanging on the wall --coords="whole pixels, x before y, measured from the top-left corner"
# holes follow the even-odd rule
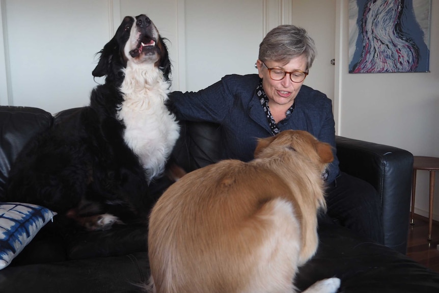
[[[349,73],[429,72],[431,0],[349,0]]]

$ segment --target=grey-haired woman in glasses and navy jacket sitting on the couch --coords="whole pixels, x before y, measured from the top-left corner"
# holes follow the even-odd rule
[[[253,159],[257,138],[286,129],[306,130],[335,150],[332,102],[304,86],[316,47],[304,29],[280,25],[259,46],[258,74],[227,75],[199,92],[173,92],[179,120],[221,124],[222,158]],[[328,167],[327,215],[364,237],[382,243],[381,205],[366,182],[340,173],[339,162]]]

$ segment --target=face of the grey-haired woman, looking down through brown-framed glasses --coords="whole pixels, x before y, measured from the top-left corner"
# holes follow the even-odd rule
[[[272,60],[267,60],[264,63],[268,68],[279,68],[288,72],[307,70],[307,58],[305,55],[295,57],[286,64],[285,62],[281,63]],[[256,64],[258,66],[259,77],[262,78],[262,87],[268,97],[269,104],[276,103],[291,106],[304,81],[293,83],[288,73],[280,81],[275,81],[271,79],[267,67],[262,64],[261,60],[258,60]]]

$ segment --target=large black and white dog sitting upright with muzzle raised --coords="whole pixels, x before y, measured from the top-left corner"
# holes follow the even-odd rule
[[[88,230],[147,218],[148,184],[179,136],[166,106],[168,49],[153,22],[125,17],[99,53],[93,76],[105,83],[90,105],[62,112],[25,146],[8,184],[8,200],[46,206]]]

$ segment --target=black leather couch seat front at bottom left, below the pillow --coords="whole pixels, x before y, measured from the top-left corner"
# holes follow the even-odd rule
[[[0,292],[145,292],[148,253],[8,267]]]

